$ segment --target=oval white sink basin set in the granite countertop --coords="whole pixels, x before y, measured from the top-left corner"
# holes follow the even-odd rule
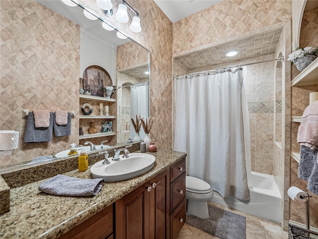
[[[129,158],[122,158],[113,161],[109,158],[110,164],[104,165],[101,160],[90,167],[93,178],[103,178],[105,182],[121,181],[139,176],[149,171],[155,164],[155,156],[147,153],[130,153]]]

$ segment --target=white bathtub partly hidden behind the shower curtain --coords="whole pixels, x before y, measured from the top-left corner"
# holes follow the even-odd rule
[[[275,223],[281,222],[282,197],[273,175],[251,172],[251,184],[249,188],[249,201],[241,201],[233,196],[222,198],[217,192],[211,202],[239,210]]]

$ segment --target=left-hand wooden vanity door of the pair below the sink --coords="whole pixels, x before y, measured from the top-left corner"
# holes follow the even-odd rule
[[[149,239],[149,187],[145,183],[116,201],[116,239]]]

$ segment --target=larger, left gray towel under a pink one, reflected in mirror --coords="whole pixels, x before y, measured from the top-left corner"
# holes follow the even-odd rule
[[[50,126],[36,128],[34,125],[33,112],[29,112],[28,119],[26,120],[23,142],[50,142],[52,140],[53,133],[53,119],[54,113],[50,112]]]

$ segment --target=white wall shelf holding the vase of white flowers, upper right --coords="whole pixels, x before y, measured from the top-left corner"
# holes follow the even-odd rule
[[[318,84],[318,58],[292,80],[292,86],[307,86]]]

